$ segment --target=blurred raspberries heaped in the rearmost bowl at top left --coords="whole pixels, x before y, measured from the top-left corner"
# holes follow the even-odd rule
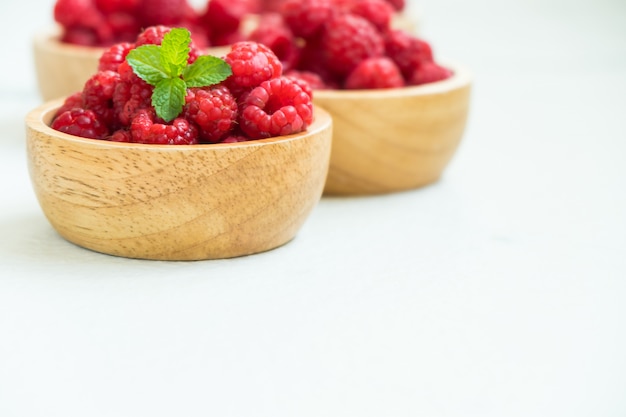
[[[64,42],[107,47],[132,42],[148,26],[187,28],[201,48],[244,40],[246,15],[277,11],[284,0],[206,0],[193,7],[188,0],[56,0],[54,19]],[[386,0],[396,10],[404,0]],[[342,1],[343,3],[343,1]]]

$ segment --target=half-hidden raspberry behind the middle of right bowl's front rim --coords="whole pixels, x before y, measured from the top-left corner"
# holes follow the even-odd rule
[[[404,87],[404,78],[398,66],[387,57],[368,58],[348,75],[344,88],[375,89]]]

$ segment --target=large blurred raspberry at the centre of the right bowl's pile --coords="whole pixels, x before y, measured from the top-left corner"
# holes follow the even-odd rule
[[[366,58],[383,56],[385,44],[366,19],[345,14],[326,23],[322,34],[324,62],[339,76],[350,73]]]

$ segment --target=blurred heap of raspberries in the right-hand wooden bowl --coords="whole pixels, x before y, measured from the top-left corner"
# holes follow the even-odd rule
[[[385,0],[283,0],[263,13],[248,39],[268,46],[286,74],[318,89],[399,88],[444,80],[452,72],[430,44],[392,26]]]

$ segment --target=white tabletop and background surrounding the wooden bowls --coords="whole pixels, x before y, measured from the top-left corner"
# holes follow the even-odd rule
[[[41,213],[22,125],[51,7],[0,5],[0,416],[626,415],[622,0],[412,4],[475,74],[444,179],[194,263],[83,250]]]

